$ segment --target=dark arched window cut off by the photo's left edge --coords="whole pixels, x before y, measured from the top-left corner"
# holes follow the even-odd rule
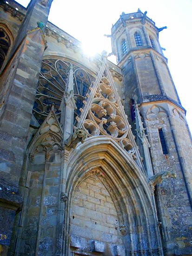
[[[0,69],[3,66],[9,47],[10,38],[8,37],[5,30],[2,27],[0,27]]]

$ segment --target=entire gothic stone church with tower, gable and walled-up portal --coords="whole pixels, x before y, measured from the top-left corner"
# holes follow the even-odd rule
[[[192,255],[192,139],[158,28],[139,9],[93,58],[0,1],[0,256]]]

